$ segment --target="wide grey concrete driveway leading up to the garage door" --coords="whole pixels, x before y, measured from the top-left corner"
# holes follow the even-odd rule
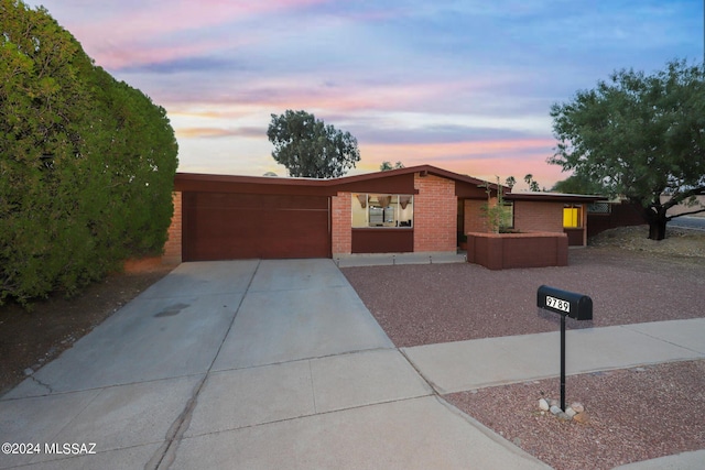
[[[180,265],[6,394],[0,442],[0,468],[547,468],[441,400],[332,260]]]

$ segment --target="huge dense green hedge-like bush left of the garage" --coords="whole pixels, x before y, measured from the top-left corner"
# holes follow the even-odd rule
[[[177,144],[45,9],[0,0],[0,305],[26,305],[162,252]]]

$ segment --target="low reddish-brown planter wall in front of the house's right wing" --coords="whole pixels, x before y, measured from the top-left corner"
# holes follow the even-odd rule
[[[490,270],[567,266],[565,233],[468,233],[467,261]]]

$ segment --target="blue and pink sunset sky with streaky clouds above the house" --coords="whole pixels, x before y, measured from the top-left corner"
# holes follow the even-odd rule
[[[551,187],[552,103],[704,55],[703,0],[26,3],[166,109],[180,172],[285,176],[267,127],[303,109],[357,138],[349,174],[401,161]]]

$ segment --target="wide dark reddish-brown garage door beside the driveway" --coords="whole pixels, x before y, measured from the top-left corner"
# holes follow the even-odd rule
[[[330,258],[325,196],[183,194],[184,261]]]

